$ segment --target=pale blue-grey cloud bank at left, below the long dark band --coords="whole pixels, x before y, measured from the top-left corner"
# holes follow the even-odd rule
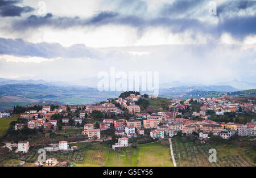
[[[22,39],[0,38],[0,54],[13,56],[31,56],[44,58],[97,58],[101,59],[102,53],[99,50],[87,48],[85,45],[72,45],[65,48],[58,43],[27,43]]]

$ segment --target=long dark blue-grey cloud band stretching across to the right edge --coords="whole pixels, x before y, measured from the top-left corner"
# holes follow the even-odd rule
[[[201,35],[212,35],[216,38],[220,37],[222,33],[229,33],[238,40],[242,40],[248,35],[256,34],[255,15],[251,16],[251,14],[248,13],[243,16],[238,16],[240,10],[249,12],[254,10],[256,8],[255,2],[226,1],[220,5],[217,4],[217,13],[219,15],[215,16],[215,18],[218,19],[218,23],[215,24],[213,24],[211,20],[202,22],[199,20],[198,16],[193,14],[193,12],[197,13],[197,11],[200,11],[204,7],[203,10],[200,11],[201,14],[209,16],[208,9],[205,9],[205,5],[207,5],[208,2],[209,1],[206,0],[175,1],[171,4],[161,6],[159,10],[160,16],[155,17],[140,16],[136,13],[121,14],[120,12],[114,11],[101,11],[90,18],[59,17],[51,13],[45,16],[31,15],[27,19],[16,20],[13,23],[12,29],[23,31],[42,26],[65,29],[77,26],[97,27],[112,24],[137,28],[141,34],[147,27],[164,27],[169,29],[172,33],[193,32],[195,35],[196,33],[202,33]],[[127,1],[119,1],[117,7],[125,8],[126,3]],[[139,9],[139,5],[143,6],[144,3],[141,1],[131,1],[131,5],[134,5],[132,6],[134,7],[132,10],[136,10]],[[146,11],[147,6],[145,5],[139,10]],[[183,16],[178,16],[179,14]],[[191,14],[191,16],[186,16],[186,14]]]

